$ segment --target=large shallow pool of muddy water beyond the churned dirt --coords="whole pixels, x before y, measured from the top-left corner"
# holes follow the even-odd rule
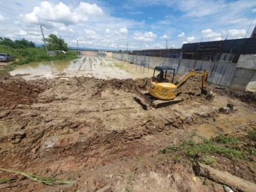
[[[18,65],[11,75],[22,75],[26,80],[45,77],[96,77],[98,79],[137,79],[151,77],[152,70],[146,73],[136,70],[136,66],[111,57],[83,56],[73,61],[45,61]]]

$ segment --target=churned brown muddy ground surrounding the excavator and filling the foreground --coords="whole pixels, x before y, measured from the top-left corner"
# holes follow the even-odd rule
[[[255,94],[210,85],[209,101],[201,80],[191,78],[179,89],[181,102],[145,108],[133,90],[146,92],[150,80],[1,75],[0,168],[76,182],[51,186],[0,170],[0,179],[14,180],[0,191],[97,191],[108,184],[113,191],[224,191],[197,176],[186,156],[159,151],[195,130],[207,139],[255,131]],[[255,148],[255,141],[236,148],[247,142]],[[255,158],[212,158],[213,168],[256,183]]]

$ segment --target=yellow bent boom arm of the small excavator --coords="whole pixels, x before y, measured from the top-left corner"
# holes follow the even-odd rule
[[[205,88],[207,86],[207,77],[208,77],[208,71],[205,70],[199,70],[199,69],[191,69],[187,71],[187,73],[183,74],[179,80],[177,80],[174,84],[179,88],[179,86],[182,86],[187,79],[191,76],[202,76],[202,88]]]

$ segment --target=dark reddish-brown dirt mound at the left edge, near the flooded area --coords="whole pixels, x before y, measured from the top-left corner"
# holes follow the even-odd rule
[[[0,79],[0,106],[14,107],[17,104],[33,104],[43,89],[21,78],[9,76]]]

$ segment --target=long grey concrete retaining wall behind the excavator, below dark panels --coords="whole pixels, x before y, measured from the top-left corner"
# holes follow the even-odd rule
[[[113,57],[125,61],[137,63],[146,61],[151,69],[162,65],[164,57],[148,57],[113,53]],[[179,63],[180,62],[180,63]],[[195,61],[191,59],[174,59],[174,65],[179,69],[179,75],[189,69],[208,69],[208,82],[220,86],[227,86],[237,90],[256,91],[256,55],[240,55],[238,63],[227,63],[222,61]]]

